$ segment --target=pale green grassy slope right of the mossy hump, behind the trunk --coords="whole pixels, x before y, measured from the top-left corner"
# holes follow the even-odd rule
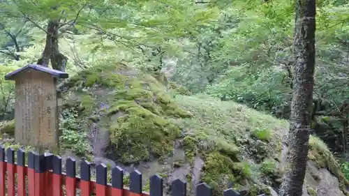
[[[209,144],[208,148],[198,144],[198,152],[204,154],[206,160],[203,181],[221,189],[222,184],[226,185],[222,179],[229,179],[237,182],[240,190],[244,186],[275,186],[280,182],[281,140],[287,133],[288,121],[245,105],[205,96],[177,96],[176,99],[194,117],[174,121],[186,130],[186,137]],[[348,181],[326,144],[311,136],[309,146],[309,159],[337,176],[341,190],[346,193]]]

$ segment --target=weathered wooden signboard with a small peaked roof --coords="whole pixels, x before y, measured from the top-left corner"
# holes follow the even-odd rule
[[[55,80],[68,74],[28,65],[5,76],[15,80],[15,141],[40,148],[59,146],[58,102]]]

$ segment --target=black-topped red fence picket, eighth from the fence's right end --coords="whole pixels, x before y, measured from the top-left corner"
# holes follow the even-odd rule
[[[80,190],[81,196],[91,195],[91,163],[83,160],[80,164]]]

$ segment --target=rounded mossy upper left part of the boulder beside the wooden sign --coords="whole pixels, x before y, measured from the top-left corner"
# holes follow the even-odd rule
[[[121,63],[83,70],[62,88],[65,107],[109,130],[107,149],[122,163],[169,155],[181,131],[168,118],[191,117],[158,80]]]

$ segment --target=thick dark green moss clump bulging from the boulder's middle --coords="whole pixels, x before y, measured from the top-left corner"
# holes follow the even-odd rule
[[[148,110],[130,107],[127,116],[110,126],[110,140],[124,163],[148,160],[149,153],[159,157],[172,151],[179,129]]]

